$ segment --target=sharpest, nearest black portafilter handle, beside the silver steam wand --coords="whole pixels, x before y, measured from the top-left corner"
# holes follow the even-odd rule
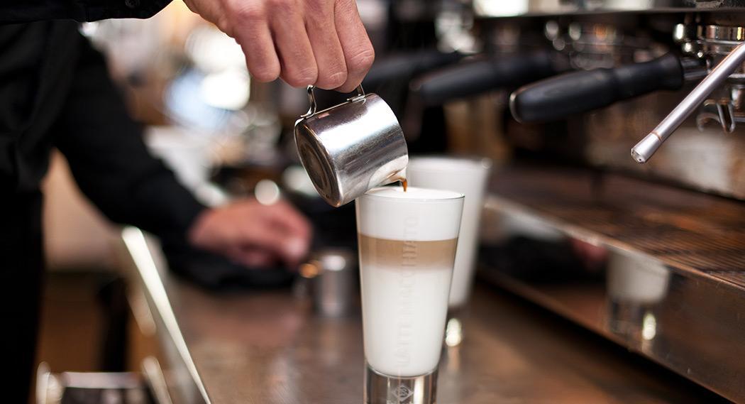
[[[519,122],[555,121],[607,107],[616,101],[685,83],[685,69],[674,54],[614,69],[570,72],[530,83],[510,95],[510,111]]]

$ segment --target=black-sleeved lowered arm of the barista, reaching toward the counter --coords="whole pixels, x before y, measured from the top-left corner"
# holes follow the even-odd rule
[[[204,207],[150,155],[101,55],[79,40],[80,63],[55,144],[80,189],[112,221],[160,235],[186,233]]]

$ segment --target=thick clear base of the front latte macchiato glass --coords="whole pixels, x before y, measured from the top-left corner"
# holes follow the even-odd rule
[[[435,404],[437,369],[422,376],[387,376],[367,365],[365,404]]]

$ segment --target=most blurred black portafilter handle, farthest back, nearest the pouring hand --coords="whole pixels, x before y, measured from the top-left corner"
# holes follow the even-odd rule
[[[409,81],[416,75],[456,63],[463,54],[458,52],[441,52],[436,49],[416,51],[407,54],[395,54],[375,60],[370,72],[367,72],[362,86],[375,89],[390,81]]]

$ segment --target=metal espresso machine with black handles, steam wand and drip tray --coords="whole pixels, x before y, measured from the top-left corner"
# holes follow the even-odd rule
[[[744,402],[745,1],[504,3],[470,2],[475,56],[410,86],[511,149],[480,282]],[[522,82],[464,67],[536,51]]]

